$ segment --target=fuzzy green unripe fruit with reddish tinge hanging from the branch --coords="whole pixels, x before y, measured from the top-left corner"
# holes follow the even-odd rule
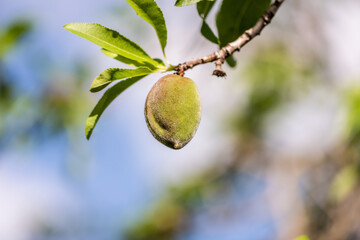
[[[201,119],[195,83],[174,74],[160,78],[146,98],[145,119],[158,141],[173,149],[184,147],[195,135]]]

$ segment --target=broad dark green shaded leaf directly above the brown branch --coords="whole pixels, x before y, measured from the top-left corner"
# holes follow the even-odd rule
[[[270,0],[223,0],[216,16],[220,47],[235,41],[253,27],[270,5]]]

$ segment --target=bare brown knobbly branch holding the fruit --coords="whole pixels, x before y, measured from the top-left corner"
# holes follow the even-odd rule
[[[222,69],[222,64],[225,59],[232,55],[251,41],[257,35],[260,35],[261,31],[271,22],[272,18],[275,16],[277,10],[285,0],[275,0],[273,4],[270,5],[268,10],[261,16],[261,18],[256,22],[255,26],[246,30],[238,39],[227,44],[225,47],[221,48],[219,51],[216,51],[208,56],[202,58],[196,58],[191,61],[181,63],[175,67],[176,74],[183,76],[184,72],[188,69],[191,69],[197,65],[214,62],[215,61],[215,70],[213,75],[218,77],[226,76],[226,73]]]

